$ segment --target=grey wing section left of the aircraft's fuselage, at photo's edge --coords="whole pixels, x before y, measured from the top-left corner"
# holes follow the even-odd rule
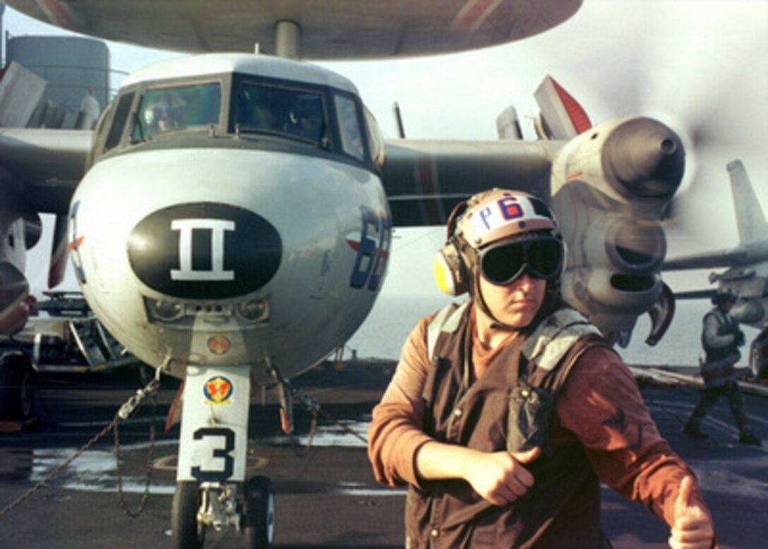
[[[0,184],[31,210],[67,213],[85,173],[91,131],[0,128]]]

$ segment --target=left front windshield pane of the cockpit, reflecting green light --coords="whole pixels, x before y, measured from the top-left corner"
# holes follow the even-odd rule
[[[218,82],[149,88],[137,110],[133,141],[170,131],[218,126],[220,112]]]

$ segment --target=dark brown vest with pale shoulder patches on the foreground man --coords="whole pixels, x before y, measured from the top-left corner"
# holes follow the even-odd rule
[[[598,329],[559,309],[516,337],[469,385],[471,307],[442,309],[428,328],[430,368],[422,393],[426,433],[480,451],[541,446],[526,465],[535,484],[502,507],[463,480],[422,481],[406,500],[406,547],[610,547],[601,528],[598,478],[578,442],[554,446],[549,420],[571,366]]]

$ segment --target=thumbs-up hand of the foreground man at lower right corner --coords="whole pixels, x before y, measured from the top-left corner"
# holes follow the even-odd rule
[[[674,549],[710,549],[716,547],[712,518],[698,501],[692,501],[694,479],[687,476],[680,482],[680,492],[674,504],[674,526],[670,532],[670,547]]]

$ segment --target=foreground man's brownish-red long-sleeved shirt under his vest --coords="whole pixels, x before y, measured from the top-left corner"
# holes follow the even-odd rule
[[[432,440],[422,431],[431,319],[425,317],[411,332],[392,381],[373,410],[369,458],[376,479],[392,486],[420,484],[415,455]],[[476,338],[473,348],[482,349]],[[491,356],[473,352],[476,376]],[[578,439],[601,481],[673,524],[680,481],[694,473],[661,438],[631,372],[615,352],[593,347],[574,364],[558,395],[550,438],[554,444]],[[694,498],[703,504],[698,490]]]

